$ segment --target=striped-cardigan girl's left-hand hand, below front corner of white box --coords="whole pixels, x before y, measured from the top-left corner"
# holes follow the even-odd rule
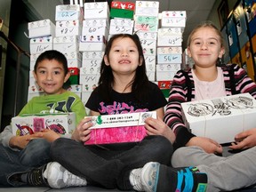
[[[193,137],[188,141],[186,146],[199,146],[206,153],[221,154],[223,152],[223,148],[217,141],[204,137]]]

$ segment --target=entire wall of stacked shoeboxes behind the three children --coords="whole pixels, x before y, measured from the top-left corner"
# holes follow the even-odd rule
[[[31,71],[41,52],[50,49],[62,52],[71,72],[68,90],[76,92],[85,104],[98,84],[108,39],[118,33],[136,33],[143,48],[148,79],[158,84],[167,98],[172,78],[181,68],[186,12],[159,13],[157,1],[135,4],[113,1],[110,9],[108,2],[84,3],[84,9],[80,5],[56,6],[56,30],[50,20],[28,23]],[[38,92],[31,72],[28,98]]]

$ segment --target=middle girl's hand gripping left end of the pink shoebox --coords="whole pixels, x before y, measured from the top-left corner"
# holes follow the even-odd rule
[[[73,140],[85,142],[90,139],[91,130],[89,128],[93,125],[91,120],[91,117],[85,117],[81,120],[81,122],[76,126],[75,132],[72,134]]]

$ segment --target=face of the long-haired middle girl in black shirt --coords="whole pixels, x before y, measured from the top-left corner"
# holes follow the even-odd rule
[[[119,37],[113,41],[110,52],[104,56],[106,65],[113,73],[131,75],[141,65],[138,48],[129,37]]]

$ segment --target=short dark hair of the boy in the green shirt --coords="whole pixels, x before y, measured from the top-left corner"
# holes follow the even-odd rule
[[[65,57],[64,54],[62,54],[61,52],[58,52],[56,50],[49,50],[49,51],[45,51],[43,53],[41,53],[38,58],[36,59],[36,64],[34,66],[34,71],[36,73],[36,68],[38,66],[38,63],[43,61],[43,60],[57,60],[58,62],[60,62],[64,68],[64,73],[65,76],[68,74],[68,60]]]

